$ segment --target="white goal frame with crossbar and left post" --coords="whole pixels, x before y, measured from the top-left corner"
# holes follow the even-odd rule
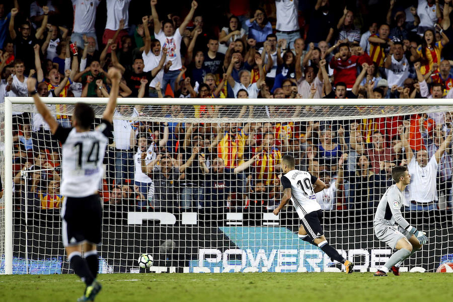
[[[77,102],[84,102],[95,107],[95,114],[97,117],[102,115],[107,98],[42,98],[43,102],[51,106],[54,105],[68,105],[67,111]],[[178,99],[178,98],[119,98],[118,105],[125,106],[143,106],[142,114],[134,117],[137,120],[144,121],[158,121],[165,122],[167,120],[184,120],[186,122],[211,122],[211,123],[228,123],[228,122],[312,122],[312,121],[331,121],[331,120],[360,120],[374,117],[393,117],[398,115],[419,114],[428,112],[453,112],[453,100],[448,99]],[[203,116],[203,117],[166,117],[165,115],[158,115],[156,106],[257,106],[262,107],[288,107],[291,106],[289,113],[281,113],[281,115],[270,115],[269,110],[261,113],[260,116],[253,116],[253,107],[248,108],[246,116]],[[296,106],[296,107],[292,107]],[[306,108],[307,106],[314,108],[308,111],[301,110],[298,114],[293,115],[292,112],[299,108]],[[3,107],[3,110],[2,110]],[[357,112],[354,108],[360,107],[361,110]],[[328,108],[328,110],[322,110]],[[53,113],[56,112],[53,110]],[[66,109],[65,109],[66,110]],[[3,112],[1,112],[3,111]],[[0,120],[3,118],[4,124],[4,173],[2,173],[3,187],[5,190],[3,197],[3,204],[0,200],[0,257],[4,257],[4,273],[13,273],[13,115],[14,112],[36,112],[33,105],[33,98],[31,97],[5,97],[5,103],[0,104]],[[61,112],[60,112],[61,113]],[[70,115],[71,112],[64,112]],[[154,114],[157,114],[154,116]],[[2,117],[3,115],[3,117]],[[131,119],[129,116],[121,119]],[[0,126],[1,128],[1,126]],[[1,160],[0,160],[1,161]],[[0,165],[2,167],[2,165]],[[27,183],[27,182],[26,182]],[[28,188],[28,185],[26,185]],[[27,204],[25,205],[27,207]],[[2,209],[4,213],[2,214]],[[27,213],[28,210],[25,210]],[[270,211],[272,212],[272,211]],[[3,219],[2,218],[3,215]],[[359,214],[360,215],[360,214]],[[451,214],[450,214],[451,215]],[[27,214],[25,214],[26,220]],[[131,218],[129,218],[131,219]],[[179,219],[179,218],[178,218]],[[2,221],[3,220],[3,221]],[[2,223],[3,222],[3,223]],[[282,224],[283,225],[283,224]],[[451,229],[451,226],[449,226]],[[448,231],[448,236],[451,236],[451,230]],[[28,232],[28,231],[27,231]],[[329,231],[330,232],[330,231]],[[332,231],[330,234],[335,234]],[[351,233],[352,234],[352,233]],[[27,236],[27,235],[26,235]],[[228,236],[228,235],[227,235]],[[349,235],[345,235],[349,236]],[[165,236],[164,236],[165,237]],[[163,237],[163,238],[164,238]],[[231,238],[230,238],[231,239]],[[3,242],[3,247],[1,242]],[[239,244],[236,243],[237,246]],[[339,246],[336,248],[340,248]],[[1,252],[4,255],[1,255]],[[228,252],[228,250],[226,250]],[[244,250],[245,251],[245,250]],[[225,251],[223,251],[226,253]],[[451,251],[450,251],[451,252]],[[27,251],[25,252],[27,253]],[[201,253],[201,252],[200,252]],[[246,253],[246,252],[244,252]],[[245,255],[245,254],[244,254]],[[132,258],[136,258],[134,255]],[[438,257],[435,254],[435,257]],[[220,256],[218,256],[220,257]],[[257,256],[258,257],[258,256]],[[0,258],[1,259],[1,258]],[[202,260],[200,260],[202,261]],[[429,263],[431,265],[431,263]],[[434,264],[432,264],[434,265]],[[429,266],[431,269],[431,266]],[[194,270],[195,271],[195,270]],[[203,270],[200,270],[203,271]],[[28,273],[28,267],[27,267]]]

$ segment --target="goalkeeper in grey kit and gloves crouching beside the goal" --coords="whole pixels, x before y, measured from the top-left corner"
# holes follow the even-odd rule
[[[396,251],[374,276],[387,276],[389,269],[398,276],[399,267],[406,258],[420,250],[428,238],[425,233],[417,231],[404,219],[401,205],[404,201],[404,189],[411,182],[407,167],[398,166],[392,170],[396,184],[390,186],[376,209],[373,227],[374,234],[382,242]]]

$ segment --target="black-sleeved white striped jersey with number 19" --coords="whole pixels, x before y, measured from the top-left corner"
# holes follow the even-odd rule
[[[308,213],[321,209],[313,186],[317,179],[307,171],[295,169],[281,177],[283,189],[291,189],[291,202],[300,219]]]

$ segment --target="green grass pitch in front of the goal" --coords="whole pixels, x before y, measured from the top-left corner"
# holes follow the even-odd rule
[[[451,301],[453,274],[101,274],[96,301]],[[0,275],[0,301],[75,301],[76,275]]]

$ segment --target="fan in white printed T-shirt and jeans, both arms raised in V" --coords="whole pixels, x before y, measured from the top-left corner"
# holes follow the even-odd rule
[[[193,14],[195,13],[198,4],[196,1],[192,1],[189,14],[187,14],[181,26],[175,31],[173,21],[165,20],[161,25],[159,21],[159,15],[156,11],[157,0],[151,0],[151,11],[153,13],[154,20],[154,33],[156,39],[161,42],[162,47],[167,48],[167,59],[171,65],[169,71],[164,73],[162,81],[162,89],[165,91],[167,84],[175,91],[175,82],[178,78],[179,71],[182,67],[181,63],[181,41],[184,31],[186,30],[187,24],[192,20]]]

